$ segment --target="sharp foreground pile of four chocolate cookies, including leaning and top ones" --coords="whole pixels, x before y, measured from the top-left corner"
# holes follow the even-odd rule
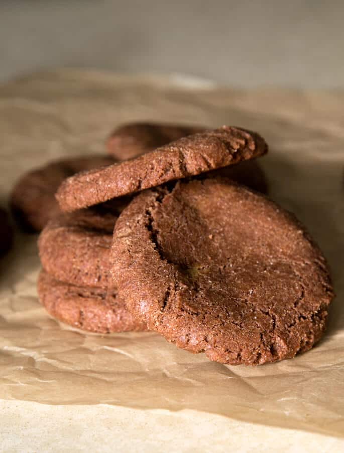
[[[264,139],[223,126],[142,149],[59,187],[67,214],[39,240],[48,311],[98,332],[148,327],[225,364],[310,349],[332,299],[325,259],[293,215],[233,180],[260,179],[239,169]]]

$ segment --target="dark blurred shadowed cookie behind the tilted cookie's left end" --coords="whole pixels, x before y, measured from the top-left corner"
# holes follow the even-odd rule
[[[11,208],[15,219],[24,231],[41,231],[49,219],[60,212],[55,192],[66,177],[113,162],[113,158],[102,155],[73,157],[28,171],[12,191]]]

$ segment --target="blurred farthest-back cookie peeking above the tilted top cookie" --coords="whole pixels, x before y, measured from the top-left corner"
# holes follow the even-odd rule
[[[112,156],[126,160],[204,130],[166,123],[128,123],[112,132],[106,140],[106,148]]]

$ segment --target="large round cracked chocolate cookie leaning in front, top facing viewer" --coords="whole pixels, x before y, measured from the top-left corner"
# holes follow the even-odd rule
[[[325,329],[333,295],[320,250],[292,214],[226,179],[141,193],[110,259],[135,317],[223,364],[293,357]]]

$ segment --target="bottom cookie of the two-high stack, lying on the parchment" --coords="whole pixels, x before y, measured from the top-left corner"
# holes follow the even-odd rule
[[[42,269],[37,290],[48,313],[73,327],[98,333],[147,330],[132,317],[113,288],[106,291],[69,285]]]

